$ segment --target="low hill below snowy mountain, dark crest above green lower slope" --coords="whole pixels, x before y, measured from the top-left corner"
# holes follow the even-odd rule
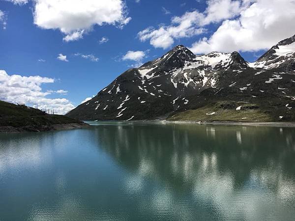
[[[275,97],[271,94],[252,97],[226,92],[214,94],[210,90],[206,94],[187,98],[190,100],[187,107],[172,113],[167,119],[202,122],[295,122],[295,100],[288,97]]]

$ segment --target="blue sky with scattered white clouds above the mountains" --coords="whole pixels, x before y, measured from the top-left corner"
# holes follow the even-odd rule
[[[0,0],[0,100],[64,114],[179,44],[253,62],[294,21],[295,0]]]

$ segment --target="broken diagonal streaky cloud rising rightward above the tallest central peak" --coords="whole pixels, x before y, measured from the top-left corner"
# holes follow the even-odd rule
[[[138,37],[141,41],[149,40],[155,48],[167,49],[174,44],[175,39],[199,35],[206,31],[209,24],[236,17],[250,3],[251,0],[207,0],[204,12],[186,12],[182,16],[173,17],[170,25],[140,31]]]

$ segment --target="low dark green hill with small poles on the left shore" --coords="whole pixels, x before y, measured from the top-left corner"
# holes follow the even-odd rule
[[[39,132],[86,125],[63,115],[50,115],[35,108],[0,101],[0,132]]]

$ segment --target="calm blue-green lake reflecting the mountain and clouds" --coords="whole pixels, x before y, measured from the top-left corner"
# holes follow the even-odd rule
[[[0,220],[294,220],[295,128],[0,134]]]

